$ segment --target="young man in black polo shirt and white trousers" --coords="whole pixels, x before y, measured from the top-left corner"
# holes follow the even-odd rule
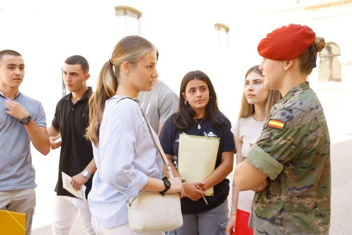
[[[77,216],[86,232],[95,234],[88,201],[83,202],[65,190],[61,177],[61,172],[71,176],[71,185],[76,190],[84,184],[85,196],[92,188],[91,175],[97,167],[92,144],[84,137],[89,122],[88,100],[92,93],[92,87],[86,85],[89,77],[89,64],[84,57],[74,55],[65,60],[62,78],[70,93],[57,103],[54,119],[48,128],[51,149],[61,146],[52,226],[54,235],[69,234]]]

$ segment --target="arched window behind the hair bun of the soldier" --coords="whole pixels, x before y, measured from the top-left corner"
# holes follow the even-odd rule
[[[319,81],[341,81],[341,64],[338,60],[340,48],[336,43],[329,42],[325,44],[324,49],[318,53],[319,63]]]

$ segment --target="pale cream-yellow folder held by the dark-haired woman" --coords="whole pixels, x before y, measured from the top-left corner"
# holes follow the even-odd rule
[[[180,134],[177,167],[180,175],[188,182],[205,180],[215,169],[220,138]],[[205,191],[214,196],[214,188]]]

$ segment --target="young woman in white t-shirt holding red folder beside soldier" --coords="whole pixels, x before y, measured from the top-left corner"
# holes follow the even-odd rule
[[[231,128],[236,143],[236,164],[243,161],[243,156],[248,153],[250,146],[260,135],[270,108],[281,97],[279,91],[269,90],[264,86],[259,65],[248,69],[245,75],[238,121]],[[237,221],[237,231],[234,233],[237,214],[239,212],[239,214],[243,214],[241,213],[242,211],[251,212],[253,196],[254,191],[247,190],[239,192],[236,186],[233,185],[230,219],[226,226],[228,235],[238,234],[239,231],[241,231],[241,235],[253,234],[253,230],[248,227],[247,221],[244,225]]]

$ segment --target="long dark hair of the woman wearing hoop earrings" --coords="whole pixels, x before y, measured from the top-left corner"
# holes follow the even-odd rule
[[[174,127],[181,130],[186,130],[194,124],[195,111],[190,105],[185,104],[185,98],[182,93],[186,92],[186,86],[189,81],[198,79],[207,83],[209,88],[209,102],[205,107],[205,120],[208,120],[215,128],[221,125],[231,125],[226,116],[219,110],[218,100],[214,90],[214,86],[209,77],[202,71],[196,70],[188,72],[181,82],[180,87],[180,102],[177,113],[174,114]]]

